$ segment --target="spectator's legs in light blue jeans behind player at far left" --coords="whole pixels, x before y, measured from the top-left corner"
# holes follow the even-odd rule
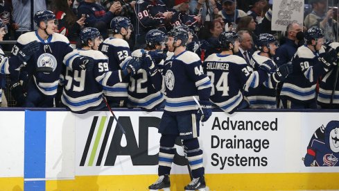
[[[33,1],[12,0],[13,19],[17,23],[17,26],[15,27],[17,28],[15,31],[15,39],[23,33],[34,31],[36,26],[33,22],[33,14],[38,10],[46,9],[45,0],[35,0],[33,10],[31,10],[31,2]]]

